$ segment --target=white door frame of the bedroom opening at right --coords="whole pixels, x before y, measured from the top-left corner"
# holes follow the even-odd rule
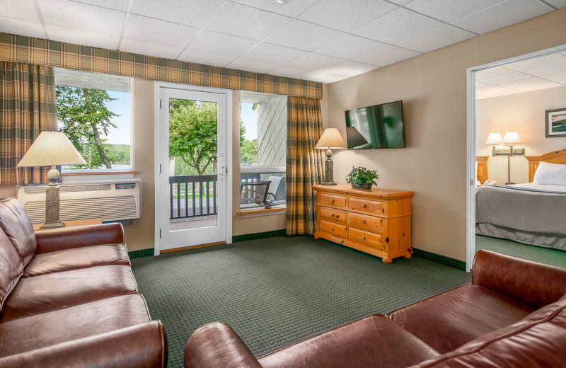
[[[466,149],[466,271],[472,268],[473,256],[475,255],[475,72],[493,67],[502,67],[505,64],[533,59],[553,52],[566,50],[566,45],[552,47],[550,49],[531,52],[529,54],[510,57],[509,59],[499,60],[479,65],[478,67],[468,68],[466,71],[468,78],[468,135]]]

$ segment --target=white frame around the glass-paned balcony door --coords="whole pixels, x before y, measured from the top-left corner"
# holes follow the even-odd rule
[[[213,88],[213,87],[203,87],[203,86],[193,86],[190,84],[176,84],[171,82],[161,82],[156,81],[154,83],[154,96],[155,96],[155,236],[154,236],[154,255],[159,255],[160,249],[160,219],[161,219],[161,206],[159,203],[159,192],[161,190],[159,183],[159,134],[160,134],[160,108],[159,108],[159,93],[160,88],[173,88],[180,89],[183,91],[196,91],[196,92],[209,92],[209,93],[221,93],[226,95],[226,169],[228,173],[226,174],[226,243],[232,243],[232,90],[223,88]]]

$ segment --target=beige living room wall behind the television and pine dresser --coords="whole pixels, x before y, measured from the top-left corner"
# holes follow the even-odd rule
[[[334,178],[377,168],[381,188],[414,190],[412,243],[466,259],[466,69],[566,44],[566,9],[328,86],[328,125],[344,111],[403,100],[405,149],[338,151]]]

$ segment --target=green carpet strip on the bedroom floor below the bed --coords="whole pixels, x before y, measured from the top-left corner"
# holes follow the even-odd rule
[[[543,248],[540,246],[530,246],[528,244],[517,243],[507,239],[492,238],[491,236],[476,235],[475,249],[487,249],[516,258],[533,260],[546,265],[566,268],[566,252],[558,249]]]

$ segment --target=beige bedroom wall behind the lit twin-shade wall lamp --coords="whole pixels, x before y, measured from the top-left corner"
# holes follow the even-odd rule
[[[492,146],[485,144],[490,132],[518,132],[526,156],[538,156],[566,149],[566,137],[545,137],[545,110],[566,108],[566,87],[515,95],[485,98],[476,102],[475,149],[478,156],[490,156],[487,168],[490,180],[507,182],[507,156],[491,156]],[[524,156],[510,158],[511,181],[529,183],[529,161]]]

